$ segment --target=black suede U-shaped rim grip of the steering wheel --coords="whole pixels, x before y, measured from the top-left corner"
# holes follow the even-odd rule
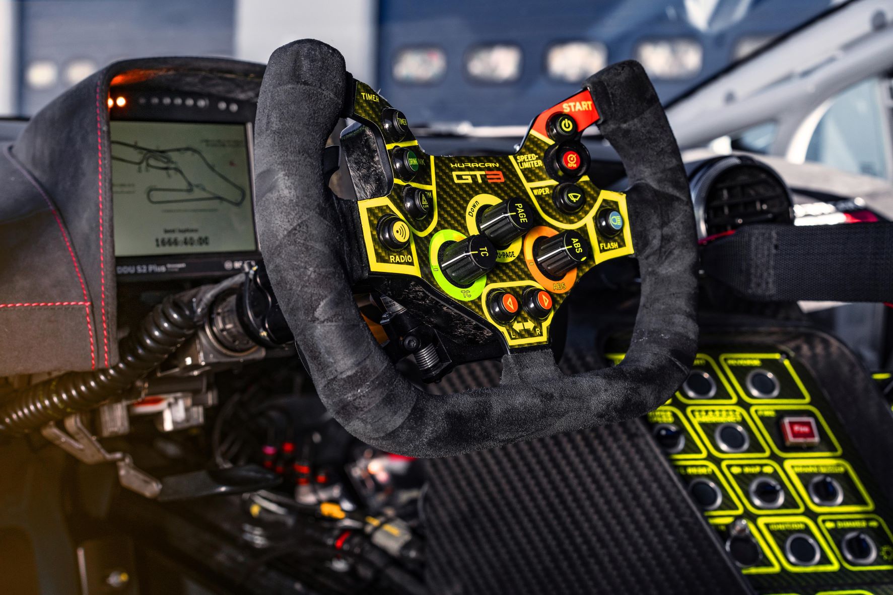
[[[329,45],[284,45],[267,66],[255,124],[263,258],[320,398],[348,432],[390,452],[440,457],[641,416],[672,394],[697,345],[695,221],[679,149],[637,62],[586,81],[599,129],[632,183],[642,289],[626,359],[565,376],[549,350],[511,353],[498,387],[446,396],[424,393],[396,371],[356,310],[351,259],[332,241],[346,236],[346,224],[322,153],[352,85]]]

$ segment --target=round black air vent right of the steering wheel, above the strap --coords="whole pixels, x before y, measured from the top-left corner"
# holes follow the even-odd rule
[[[751,223],[792,223],[788,186],[768,165],[743,155],[706,162],[691,179],[697,236],[716,236]]]

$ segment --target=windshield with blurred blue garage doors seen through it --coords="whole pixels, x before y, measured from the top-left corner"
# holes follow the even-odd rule
[[[0,115],[28,116],[108,62],[336,45],[414,124],[527,125],[606,64],[642,62],[664,102],[830,0],[0,0]]]

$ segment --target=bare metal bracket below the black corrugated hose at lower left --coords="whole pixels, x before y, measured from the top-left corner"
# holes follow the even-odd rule
[[[126,452],[105,450],[96,436],[87,429],[83,414],[65,417],[63,423],[64,432],[54,422],[50,422],[40,429],[40,434],[82,463],[114,463],[118,467],[118,481],[121,486],[146,498],[158,497],[162,491],[162,483],[134,465],[133,459]]]

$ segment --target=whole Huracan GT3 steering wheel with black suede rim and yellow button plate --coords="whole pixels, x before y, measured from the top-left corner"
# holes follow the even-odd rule
[[[337,165],[326,143],[339,118],[357,122],[341,136],[356,200],[328,187]],[[586,176],[580,133],[593,123],[626,168],[624,194]],[[273,290],[321,401],[363,442],[438,457],[610,424],[655,409],[689,372],[695,220],[679,148],[638,62],[602,70],[540,113],[513,155],[435,157],[337,50],[296,41],[272,54],[263,77],[255,169]],[[564,375],[548,349],[555,309],[588,269],[626,255],[641,272],[626,358]],[[357,285],[386,294],[388,315],[412,310],[435,334],[470,344],[496,335],[501,383],[446,396],[413,385],[360,316]],[[403,341],[420,368],[437,361],[421,353],[433,338]]]

